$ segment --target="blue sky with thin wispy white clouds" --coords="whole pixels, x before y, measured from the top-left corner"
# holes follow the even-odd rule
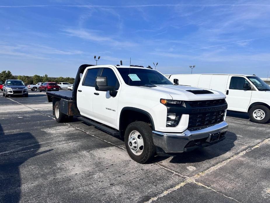
[[[98,64],[158,62],[164,74],[196,65],[266,77],[269,20],[270,1],[1,0],[0,70],[74,77],[97,55]]]

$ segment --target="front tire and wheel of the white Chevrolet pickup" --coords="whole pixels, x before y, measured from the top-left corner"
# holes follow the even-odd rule
[[[152,129],[142,121],[136,121],[128,125],[125,131],[125,144],[130,158],[140,164],[150,161],[156,153]]]

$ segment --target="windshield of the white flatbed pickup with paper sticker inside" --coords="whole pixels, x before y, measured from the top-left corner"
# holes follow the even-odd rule
[[[156,70],[142,68],[118,68],[127,85],[173,85],[164,75]]]

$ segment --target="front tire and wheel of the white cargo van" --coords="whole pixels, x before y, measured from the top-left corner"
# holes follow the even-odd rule
[[[270,110],[266,106],[256,105],[248,111],[248,115],[254,123],[266,123],[270,119]]]

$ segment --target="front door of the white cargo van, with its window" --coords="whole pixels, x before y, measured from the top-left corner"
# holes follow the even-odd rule
[[[245,83],[249,84],[250,90],[244,89]],[[246,112],[250,104],[252,87],[245,77],[230,75],[226,90],[228,110]]]

